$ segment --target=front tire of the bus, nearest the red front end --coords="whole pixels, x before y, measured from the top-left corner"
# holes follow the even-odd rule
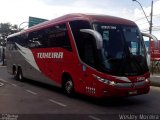
[[[67,77],[63,84],[64,92],[67,96],[74,96],[74,84],[71,78]]]

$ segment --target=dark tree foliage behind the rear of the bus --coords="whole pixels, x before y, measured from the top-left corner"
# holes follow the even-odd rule
[[[6,45],[7,36],[18,32],[18,26],[10,23],[0,23],[0,45]]]

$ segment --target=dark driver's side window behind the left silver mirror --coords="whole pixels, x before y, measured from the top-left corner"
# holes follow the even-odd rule
[[[70,22],[79,56],[83,62],[95,67],[95,41],[92,35],[80,32],[80,29],[91,29],[87,21]]]

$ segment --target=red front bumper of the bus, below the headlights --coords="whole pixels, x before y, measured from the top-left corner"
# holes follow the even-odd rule
[[[127,84],[127,85],[126,85]],[[99,91],[101,97],[125,97],[147,94],[150,90],[150,82],[118,83],[115,86],[105,86]]]

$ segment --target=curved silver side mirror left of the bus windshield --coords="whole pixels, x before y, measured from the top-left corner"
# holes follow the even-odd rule
[[[102,40],[102,36],[99,32],[92,30],[92,29],[81,29],[80,32],[92,35],[94,37],[94,39],[96,40],[97,49],[98,50],[102,49],[103,40]]]

